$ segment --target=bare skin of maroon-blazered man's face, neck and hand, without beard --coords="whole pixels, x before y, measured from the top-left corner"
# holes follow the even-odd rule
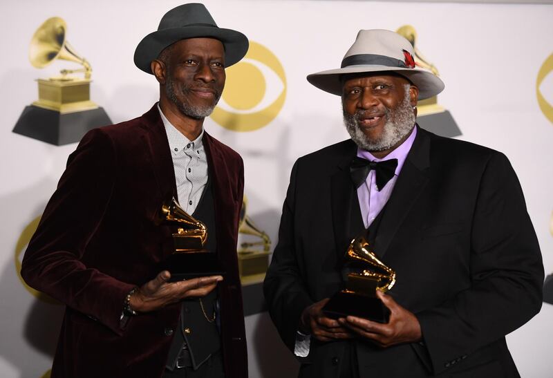
[[[160,84],[160,108],[178,131],[188,140],[198,138],[203,118],[196,119],[183,113],[171,100],[165,86],[170,79],[178,102],[188,106],[212,106],[216,93],[225,86],[225,50],[221,41],[212,38],[191,38],[177,41],[171,46],[167,62],[151,62],[151,71]],[[160,310],[171,303],[189,297],[201,297],[215,289],[222,276],[192,278],[169,283],[171,274],[164,270],[144,283],[131,296],[131,308],[137,312]]]

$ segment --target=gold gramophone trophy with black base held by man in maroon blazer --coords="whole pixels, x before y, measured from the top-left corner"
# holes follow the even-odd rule
[[[205,249],[207,227],[182,209],[175,198],[162,204],[157,224],[177,228],[172,234],[173,253],[161,267],[171,273],[169,282],[225,273],[216,253]]]

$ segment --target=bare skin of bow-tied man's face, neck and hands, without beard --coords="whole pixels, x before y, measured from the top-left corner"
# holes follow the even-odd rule
[[[355,114],[356,111],[366,111],[359,126],[370,140],[377,139],[382,135],[384,124],[386,124],[386,108],[394,111],[405,97],[404,84],[410,84],[400,75],[383,75],[382,73],[346,75],[342,82],[344,110],[350,115]],[[411,106],[416,106],[418,93],[418,88],[411,84],[409,89]],[[416,108],[413,109],[413,112],[416,116]],[[384,158],[408,137],[409,133],[390,149],[370,152],[375,158]],[[303,310],[300,331],[312,334],[319,341],[362,337],[382,348],[420,341],[422,332],[416,316],[397,304],[391,296],[378,290],[376,294],[391,312],[390,320],[386,324],[357,316],[347,316],[337,320],[330,319],[322,312],[322,308],[329,300],[326,298]]]

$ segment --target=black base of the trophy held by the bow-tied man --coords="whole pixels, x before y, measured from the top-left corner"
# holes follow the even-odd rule
[[[331,319],[348,315],[388,323],[390,310],[376,296],[365,296],[350,292],[337,292],[324,305],[323,312]]]

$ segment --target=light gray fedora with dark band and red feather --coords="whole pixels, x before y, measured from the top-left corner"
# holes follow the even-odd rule
[[[429,70],[415,66],[413,46],[391,30],[359,30],[341,68],[308,75],[314,86],[334,95],[341,95],[340,76],[347,73],[395,72],[419,88],[419,100],[438,95],[444,82]]]

